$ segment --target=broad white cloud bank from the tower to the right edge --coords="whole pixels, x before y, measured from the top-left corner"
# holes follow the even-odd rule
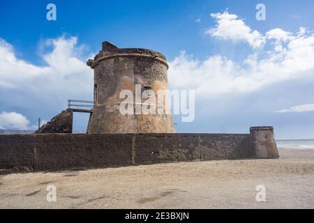
[[[270,49],[253,50],[246,59],[237,62],[220,54],[200,61],[181,52],[170,61],[171,89],[195,89],[205,96],[245,93],[314,75],[314,35],[306,28],[301,27],[295,33],[271,29],[263,36],[238,20],[237,15],[225,12],[212,16],[218,23],[216,29],[207,31],[212,36],[246,40],[253,48],[265,43]]]

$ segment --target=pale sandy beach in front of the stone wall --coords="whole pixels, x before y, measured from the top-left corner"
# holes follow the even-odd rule
[[[0,208],[314,208],[314,150],[278,160],[180,162],[0,176]],[[57,188],[48,202],[47,186]],[[266,188],[257,202],[256,186]]]

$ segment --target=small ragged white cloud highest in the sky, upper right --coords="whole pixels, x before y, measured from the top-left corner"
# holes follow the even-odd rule
[[[238,19],[237,15],[224,13],[211,13],[211,17],[216,19],[216,28],[206,31],[214,38],[232,40],[234,42],[244,41],[251,45],[253,49],[262,47],[265,38],[258,31],[252,30],[243,20]]]

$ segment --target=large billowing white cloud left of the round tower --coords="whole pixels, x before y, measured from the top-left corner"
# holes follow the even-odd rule
[[[15,55],[13,46],[0,39],[0,86],[5,88],[50,89],[67,91],[71,89],[87,89],[92,80],[92,72],[80,59],[82,46],[77,46],[77,38],[65,38],[45,41],[52,46],[52,52],[42,55],[46,66],[36,66]]]

